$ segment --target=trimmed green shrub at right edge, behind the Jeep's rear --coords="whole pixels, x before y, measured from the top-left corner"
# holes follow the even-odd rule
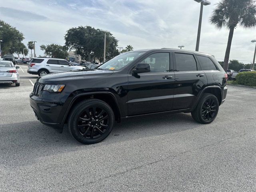
[[[256,86],[256,71],[240,72],[236,75],[236,84]]]

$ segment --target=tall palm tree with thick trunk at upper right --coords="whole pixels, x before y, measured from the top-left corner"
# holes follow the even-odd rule
[[[254,28],[256,26],[255,0],[221,0],[212,12],[210,23],[216,28],[226,27],[229,29],[228,45],[224,58],[223,68],[228,69],[228,60],[234,29],[237,26]]]

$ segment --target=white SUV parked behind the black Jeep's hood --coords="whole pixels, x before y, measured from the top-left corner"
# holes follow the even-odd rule
[[[71,71],[83,69],[83,66],[74,66],[64,59],[58,58],[32,58],[28,64],[27,72],[38,76],[44,76],[48,73]]]

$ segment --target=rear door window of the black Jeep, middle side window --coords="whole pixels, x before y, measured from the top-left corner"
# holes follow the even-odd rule
[[[177,71],[196,71],[196,60],[193,55],[175,53]]]

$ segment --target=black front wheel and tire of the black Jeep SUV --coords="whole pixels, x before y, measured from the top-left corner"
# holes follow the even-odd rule
[[[112,108],[98,99],[79,102],[74,106],[68,118],[70,134],[83,144],[101,142],[110,134],[113,124]]]

